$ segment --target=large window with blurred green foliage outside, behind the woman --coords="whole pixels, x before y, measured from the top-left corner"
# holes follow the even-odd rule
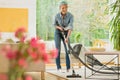
[[[37,35],[45,40],[54,37],[52,19],[58,10],[59,1],[37,0]],[[79,41],[85,46],[91,46],[95,39],[109,39],[108,0],[67,1],[69,11],[74,15],[74,31],[70,37],[71,42]]]

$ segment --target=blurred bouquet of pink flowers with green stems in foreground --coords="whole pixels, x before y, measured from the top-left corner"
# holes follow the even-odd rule
[[[50,58],[57,57],[57,49],[50,51],[46,50],[45,43],[38,38],[31,38],[26,40],[26,30],[19,28],[15,32],[15,37],[19,39],[17,48],[14,48],[10,44],[2,47],[2,53],[10,61],[10,67],[8,72],[8,80],[18,80],[23,77],[25,70],[31,62],[50,62]],[[22,80],[32,80],[30,76],[24,77]]]

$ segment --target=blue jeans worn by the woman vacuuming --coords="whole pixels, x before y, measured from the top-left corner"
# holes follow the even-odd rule
[[[67,32],[66,32],[66,36],[67,36]],[[57,69],[61,69],[61,63],[60,63],[61,40],[64,44],[65,53],[66,53],[66,56],[65,56],[66,57],[66,68],[70,69],[69,53],[68,53],[68,50],[67,50],[67,46],[65,45],[64,38],[63,38],[63,36],[60,32],[55,32],[55,46],[58,49],[58,56],[56,58]]]

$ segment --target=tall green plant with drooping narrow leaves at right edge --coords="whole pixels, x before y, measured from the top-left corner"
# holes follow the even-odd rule
[[[110,21],[110,39],[113,48],[120,50],[120,0],[116,0],[111,7],[112,19]]]

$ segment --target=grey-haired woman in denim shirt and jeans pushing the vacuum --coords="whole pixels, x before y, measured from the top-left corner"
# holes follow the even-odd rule
[[[70,70],[70,59],[65,43],[68,43],[69,36],[73,30],[73,15],[68,12],[68,4],[62,1],[59,5],[60,12],[56,14],[54,20],[55,26],[55,46],[58,49],[58,56],[56,58],[57,70],[61,70],[60,64],[60,50],[61,50],[61,40],[63,41],[65,52],[66,52],[66,68],[67,72]],[[65,39],[63,38],[61,32],[65,32]]]

